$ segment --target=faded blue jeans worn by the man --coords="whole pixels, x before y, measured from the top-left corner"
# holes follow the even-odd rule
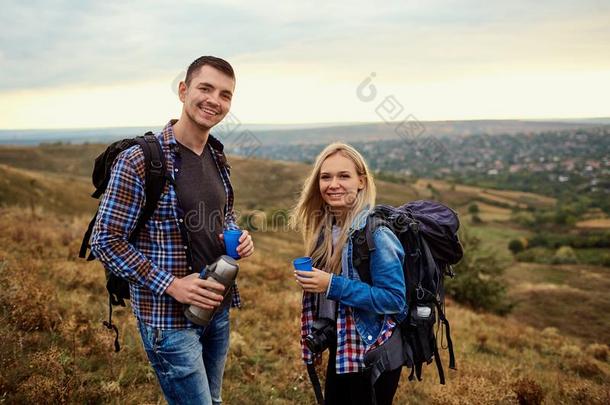
[[[139,321],[144,349],[170,405],[222,404],[229,305],[205,328],[158,329]]]

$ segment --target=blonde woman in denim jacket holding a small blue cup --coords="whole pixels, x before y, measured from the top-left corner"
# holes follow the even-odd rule
[[[295,271],[303,288],[303,360],[310,364],[321,356],[310,349],[321,350],[311,344],[314,321],[327,319],[336,331],[329,338],[324,388],[328,405],[391,404],[400,379],[400,368],[385,372],[373,389],[364,371],[365,353],[384,344],[396,327],[391,315],[406,313],[404,250],[387,227],[373,233],[372,285],[359,280],[352,263],[350,237],[366,225],[375,195],[362,155],[349,145],[333,143],[318,155],[292,215],[314,263],[312,271]],[[317,322],[314,329],[319,326]]]

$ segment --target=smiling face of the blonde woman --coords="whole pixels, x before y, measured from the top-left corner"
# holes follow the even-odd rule
[[[327,157],[322,163],[319,176],[322,199],[331,208],[351,208],[358,191],[364,188],[363,177],[356,172],[354,162],[340,152]]]

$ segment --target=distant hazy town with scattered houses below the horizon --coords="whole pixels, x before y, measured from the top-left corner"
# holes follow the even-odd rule
[[[327,144],[264,144],[229,152],[311,163]],[[459,183],[534,191],[559,197],[587,195],[610,211],[610,125],[515,134],[443,135],[356,141],[380,175],[440,178]]]

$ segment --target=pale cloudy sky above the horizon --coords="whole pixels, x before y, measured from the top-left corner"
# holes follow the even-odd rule
[[[163,125],[205,54],[246,123],[610,116],[608,1],[0,1],[2,129]]]

